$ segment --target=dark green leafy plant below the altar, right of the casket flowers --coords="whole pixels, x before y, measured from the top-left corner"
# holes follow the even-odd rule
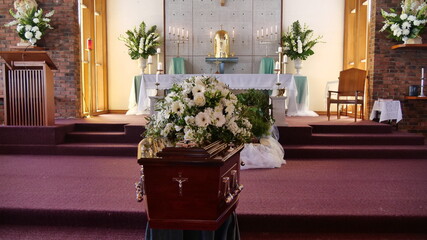
[[[272,107],[268,94],[262,90],[249,89],[238,94],[237,99],[245,106],[243,116],[252,124],[252,134],[257,138],[269,135],[274,120],[270,115]]]

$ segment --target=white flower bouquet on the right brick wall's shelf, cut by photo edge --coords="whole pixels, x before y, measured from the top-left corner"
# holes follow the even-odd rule
[[[422,43],[407,42],[410,39],[416,39],[424,31],[427,23],[427,4],[424,0],[405,0],[402,1],[402,11],[400,14],[394,9],[386,12],[381,9],[384,26],[381,32],[387,31],[388,37],[405,43]],[[421,39],[419,39],[421,40]]]

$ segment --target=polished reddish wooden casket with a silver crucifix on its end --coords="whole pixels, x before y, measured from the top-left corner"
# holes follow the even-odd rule
[[[215,142],[204,148],[166,147],[140,158],[151,228],[216,230],[237,207],[240,151]]]

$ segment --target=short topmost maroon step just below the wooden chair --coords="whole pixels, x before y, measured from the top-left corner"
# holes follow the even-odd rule
[[[313,133],[391,133],[393,127],[389,124],[348,124],[348,125],[322,125],[310,124]]]

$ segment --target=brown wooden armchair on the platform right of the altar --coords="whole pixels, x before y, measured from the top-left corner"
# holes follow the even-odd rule
[[[338,91],[328,91],[327,115],[330,120],[331,104],[337,104],[337,118],[340,118],[340,104],[354,104],[354,121],[357,118],[357,105],[361,105],[361,118],[363,119],[364,89],[367,72],[365,70],[351,68],[340,72]],[[335,93],[336,96],[333,96]]]

